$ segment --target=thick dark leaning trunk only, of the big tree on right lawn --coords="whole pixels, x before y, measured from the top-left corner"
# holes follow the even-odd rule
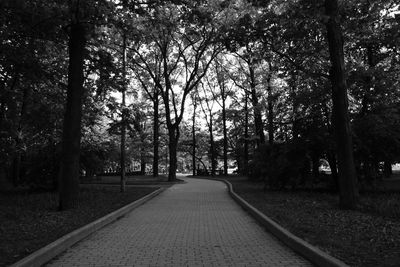
[[[340,207],[354,209],[358,202],[357,178],[353,158],[353,143],[348,114],[347,85],[344,69],[343,37],[337,0],[325,0],[331,83],[333,121],[337,142]]]

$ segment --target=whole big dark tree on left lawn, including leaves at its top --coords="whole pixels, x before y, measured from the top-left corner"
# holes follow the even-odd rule
[[[107,13],[108,3],[100,2],[93,9],[91,2],[70,1],[68,15],[68,86],[64,113],[62,159],[60,164],[59,208],[70,209],[76,206],[79,195],[79,157],[81,139],[82,105],[84,100],[85,69],[87,56],[86,43],[94,25],[101,24]],[[84,73],[85,72],[85,73]]]

